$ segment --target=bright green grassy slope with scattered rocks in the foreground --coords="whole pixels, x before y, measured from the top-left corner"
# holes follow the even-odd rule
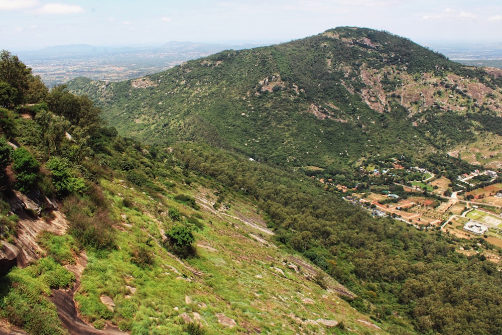
[[[325,327],[309,321],[319,318],[343,321],[357,333],[375,330],[356,321],[367,318],[332,289],[324,290],[306,280],[306,275],[315,276],[311,271],[301,269],[296,273],[290,269],[290,251],[273,246],[270,237],[261,231],[224,214],[194,210],[157,194],[143,194],[118,180],[102,181],[101,185],[114,204],[114,215],[121,224],[117,226],[118,250],[101,255],[91,253],[82,276],[75,299],[89,321],[99,319],[102,309],[99,297],[104,294],[112,297],[116,305],[111,319],[123,326],[131,320],[127,316],[133,316],[131,328],[135,333],[141,333],[140,329],[148,329],[149,333],[180,333],[179,323],[183,322],[178,315],[184,312],[192,318],[193,312],[198,313],[209,333],[322,333]],[[179,191],[199,193],[203,197],[204,192],[209,192],[208,197],[215,198],[207,189],[197,190],[199,187],[185,186]],[[123,197],[134,199],[134,204],[124,207]],[[245,216],[248,212],[249,216],[257,216],[253,205],[245,199],[236,198],[232,203],[235,209],[229,210],[229,214]],[[196,258],[183,264],[158,245],[162,242],[162,232],[173,225],[164,212],[168,207],[175,207],[187,216],[203,217],[200,221],[204,229],[196,233],[197,243],[202,247],[197,248]],[[268,243],[259,242],[250,234]],[[141,245],[155,254],[154,264],[145,269],[130,261],[131,254]],[[190,269],[202,275],[194,275]],[[339,287],[336,282],[326,280],[330,287]],[[126,285],[135,287],[136,292],[131,294]],[[303,301],[306,298],[313,302]],[[216,313],[234,319],[237,326],[221,325]]]

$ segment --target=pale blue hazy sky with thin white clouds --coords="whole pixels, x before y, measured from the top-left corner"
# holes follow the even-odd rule
[[[0,49],[272,44],[339,26],[421,45],[502,42],[501,0],[0,0]]]

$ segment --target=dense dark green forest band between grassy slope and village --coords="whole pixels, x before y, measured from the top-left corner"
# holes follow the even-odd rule
[[[209,147],[185,146],[178,155],[188,168],[255,197],[278,241],[355,292],[350,302],[358,310],[394,323],[390,332],[502,331],[493,312],[501,297],[497,265],[459,254],[458,240],[369,217],[331,193],[309,189],[300,176]],[[482,238],[470,243],[486,245]]]

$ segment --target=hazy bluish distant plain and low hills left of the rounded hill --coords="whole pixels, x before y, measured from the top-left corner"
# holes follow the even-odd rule
[[[18,56],[52,87],[79,76],[111,81],[138,78],[221,50],[250,47],[256,45],[168,42],[160,46],[104,47],[78,44],[23,51]]]

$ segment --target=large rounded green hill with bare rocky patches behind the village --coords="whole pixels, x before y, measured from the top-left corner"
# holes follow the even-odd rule
[[[426,160],[487,136],[500,145],[500,75],[346,27],[68,87],[88,94],[120,133],[149,143],[204,141],[282,166],[339,169],[383,154]],[[482,163],[502,164],[498,150],[486,154]]]

